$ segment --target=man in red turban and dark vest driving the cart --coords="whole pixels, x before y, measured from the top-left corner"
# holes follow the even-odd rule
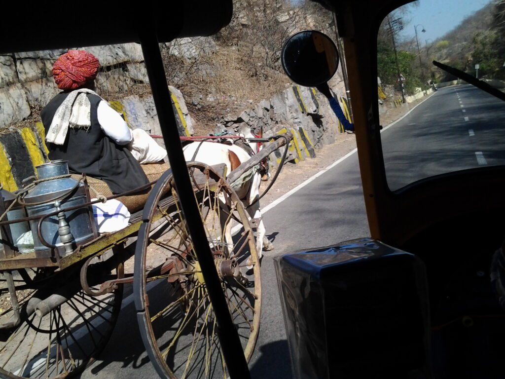
[[[71,50],[53,68],[63,91],[41,112],[49,159],[68,161],[71,173],[103,180],[113,194],[149,181],[128,145],[133,136],[109,103],[94,92],[100,64],[92,54]]]

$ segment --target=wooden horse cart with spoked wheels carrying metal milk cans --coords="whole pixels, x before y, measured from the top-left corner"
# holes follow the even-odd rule
[[[289,142],[286,136],[272,140],[228,176],[225,165],[187,164],[205,244],[246,360],[260,326],[260,261],[253,220],[231,184]],[[85,175],[72,179],[63,161],[39,166],[38,179],[15,196],[3,192],[0,270],[9,305],[1,313],[0,376],[82,371],[111,337],[125,283],[133,283],[142,338],[155,364],[170,377],[226,374],[217,319],[172,170],[150,184],[144,209],[129,225],[101,235],[91,207],[105,199],[91,201]],[[232,224],[241,230],[228,241],[225,231]],[[31,252],[15,245],[23,230],[34,235]],[[124,262],[133,255],[134,274],[125,275]]]

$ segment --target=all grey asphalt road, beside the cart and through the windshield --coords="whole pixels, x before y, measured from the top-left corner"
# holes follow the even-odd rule
[[[500,125],[505,125],[502,104],[469,85],[439,89],[383,131],[389,185],[399,188],[426,176],[478,167],[484,161],[503,163],[505,153],[496,144]],[[276,248],[265,253],[262,262],[262,322],[249,368],[253,378],[284,379],[291,377],[291,368],[273,258],[369,235],[357,154],[266,212],[264,222]],[[82,375],[96,376],[157,377],[140,340],[131,297],[123,304],[101,360]]]

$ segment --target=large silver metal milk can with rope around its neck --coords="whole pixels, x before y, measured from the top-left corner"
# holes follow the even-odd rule
[[[39,180],[69,174],[67,161],[63,160],[45,163],[36,168]],[[30,217],[83,205],[88,201],[84,184],[71,177],[39,182],[24,198],[26,211]],[[77,245],[94,238],[91,206],[82,206],[46,217],[41,222],[40,234],[38,223],[38,219],[30,221],[35,254],[38,257],[52,256],[52,250],[55,248],[59,249],[60,256],[69,254]]]

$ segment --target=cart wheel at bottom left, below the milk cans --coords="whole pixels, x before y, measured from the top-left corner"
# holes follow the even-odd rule
[[[21,323],[11,330],[0,330],[0,377],[72,377],[105,348],[121,308],[123,289],[120,286],[113,293],[92,297],[79,291],[78,282],[69,276],[62,272],[38,291],[17,291]],[[63,304],[47,309],[46,314],[34,307],[62,288],[71,291]],[[57,297],[52,299],[58,301]],[[3,293],[2,298],[9,295]],[[0,322],[12,314],[12,307],[2,310]]]

